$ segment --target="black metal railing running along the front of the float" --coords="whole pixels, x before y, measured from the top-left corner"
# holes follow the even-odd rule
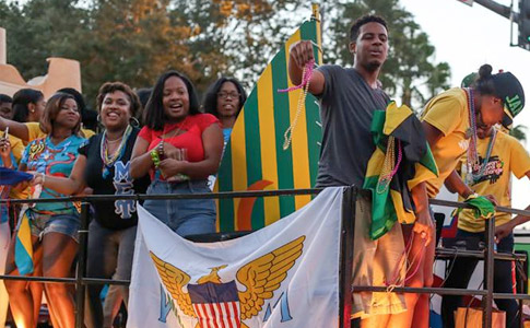
[[[64,201],[81,201],[81,225],[79,230],[79,256],[78,268],[74,278],[52,278],[52,277],[21,277],[21,276],[0,276],[0,280],[25,280],[39,281],[46,283],[69,283],[75,284],[75,327],[83,327],[84,319],[84,293],[87,284],[120,284],[128,285],[128,280],[114,279],[98,279],[85,277],[86,274],[86,251],[89,237],[89,207],[91,202],[113,201],[118,199],[146,200],[146,199],[226,199],[226,198],[252,198],[252,197],[286,197],[301,195],[317,195],[323,189],[283,189],[283,190],[260,190],[260,191],[231,191],[231,192],[208,192],[208,194],[191,194],[191,195],[94,195],[83,197],[63,197],[55,199],[10,199],[0,200],[0,204],[14,203],[35,203],[35,202],[64,202]],[[356,187],[345,187],[342,202],[342,229],[341,229],[341,245],[340,245],[340,268],[339,268],[339,327],[350,328],[351,307],[352,307],[352,292],[386,292],[386,286],[363,286],[352,285],[352,268],[353,268],[353,245],[354,245],[354,229],[355,229],[355,203],[357,194],[367,194],[365,190],[358,190]],[[431,204],[452,208],[471,208],[470,206],[444,200],[429,200]],[[530,211],[517,210],[511,208],[496,207],[496,211],[522,214],[530,216]],[[506,294],[493,292],[493,263],[494,259],[498,260],[519,260],[525,261],[525,256],[513,256],[506,254],[495,254],[494,251],[494,227],[495,219],[486,221],[485,241],[486,247],[483,251],[463,251],[459,250],[457,255],[484,259],[484,289],[483,290],[467,290],[467,289],[448,289],[448,288],[394,288],[393,292],[398,293],[429,293],[440,295],[481,295],[483,296],[483,327],[491,327],[492,325],[492,308],[494,298],[513,298],[513,300],[530,300],[528,294]],[[221,233],[223,234],[223,233]],[[211,234],[210,234],[211,235]],[[226,235],[226,234],[225,234]],[[190,239],[197,242],[198,236],[190,236]],[[438,253],[440,253],[438,250]],[[444,253],[444,251],[441,251]],[[447,250],[446,250],[447,253]],[[447,254],[446,254],[447,255]]]

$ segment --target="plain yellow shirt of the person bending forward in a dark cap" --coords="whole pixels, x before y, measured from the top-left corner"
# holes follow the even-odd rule
[[[455,87],[435,96],[425,106],[421,119],[444,134],[431,148],[438,166],[438,177],[427,180],[426,186],[428,197],[435,198],[469,147],[469,139],[466,138],[470,127],[466,91]]]

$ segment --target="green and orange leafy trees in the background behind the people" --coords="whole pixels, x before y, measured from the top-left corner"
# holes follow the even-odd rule
[[[423,104],[447,87],[449,66],[433,61],[434,46],[398,0],[323,3],[325,62],[351,62],[350,25],[376,12],[390,23],[381,75],[389,94]],[[25,79],[44,74],[48,57],[79,60],[83,93],[93,103],[106,81],[144,87],[167,69],[182,71],[202,92],[220,75],[250,87],[306,19],[290,13],[306,7],[301,0],[28,0],[1,2],[0,22],[8,60]]]

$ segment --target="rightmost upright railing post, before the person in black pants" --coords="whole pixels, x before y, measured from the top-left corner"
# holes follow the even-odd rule
[[[492,327],[493,308],[493,268],[494,268],[494,245],[495,245],[495,216],[486,222],[486,249],[484,254],[484,289],[486,294],[482,300],[483,316],[482,327]]]

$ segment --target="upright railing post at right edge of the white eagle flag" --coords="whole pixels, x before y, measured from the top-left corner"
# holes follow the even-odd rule
[[[352,312],[353,230],[357,188],[344,188],[342,196],[342,224],[339,271],[339,327],[350,328]]]

